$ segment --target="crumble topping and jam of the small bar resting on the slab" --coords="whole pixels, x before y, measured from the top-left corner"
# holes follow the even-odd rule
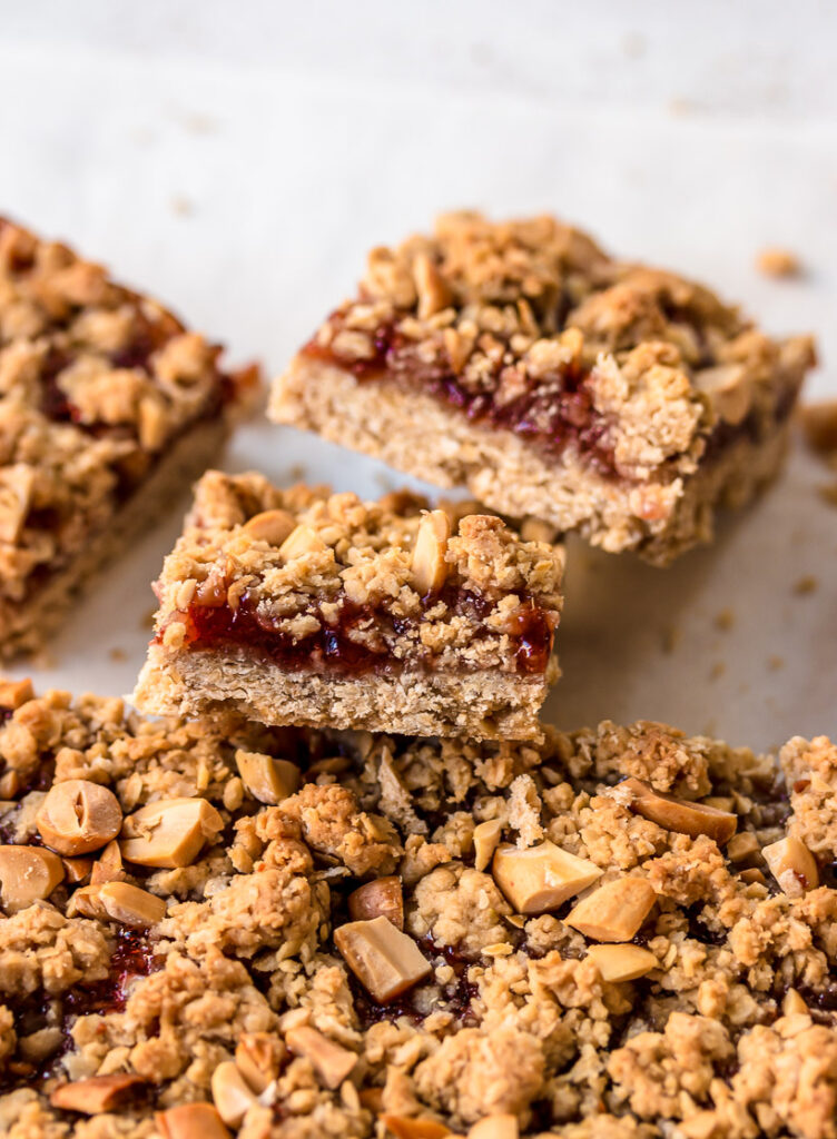
[[[543,674],[562,549],[522,541],[476,503],[426,506],[209,472],[156,585],[157,640],[243,646],[291,669]]]

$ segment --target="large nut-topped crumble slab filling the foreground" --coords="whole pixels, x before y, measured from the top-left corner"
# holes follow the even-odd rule
[[[0,690],[9,1139],[831,1139],[837,748]]]

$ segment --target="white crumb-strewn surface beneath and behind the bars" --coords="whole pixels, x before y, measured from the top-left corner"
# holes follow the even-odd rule
[[[757,19],[720,0],[3,7],[0,210],[237,359],[281,368],[367,246],[438,210],[553,210],[706,278],[777,333],[815,331],[810,393],[837,394],[834,5],[762,0]],[[801,280],[758,276],[774,244],[801,256]],[[227,465],[277,478],[304,465],[369,494],[399,481],[263,423]],[[551,715],[669,719],[758,746],[837,734],[837,511],[821,481],[798,454],[714,549],[663,575],[574,547]],[[108,572],[39,685],[131,687],[177,526]],[[795,593],[806,574],[819,588]]]

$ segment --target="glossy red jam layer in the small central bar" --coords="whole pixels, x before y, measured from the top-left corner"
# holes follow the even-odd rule
[[[442,597],[454,614],[480,616],[485,612],[483,599],[464,590],[446,591]],[[437,600],[424,598],[428,605]],[[408,620],[348,600],[341,605],[335,623],[326,624],[316,608],[311,612],[320,621],[319,629],[301,640],[276,629],[247,593],[242,596],[236,609],[227,604],[213,607],[193,604],[188,609],[173,613],[170,621],[181,621],[186,625],[187,648],[245,647],[291,672],[302,669],[341,674],[403,671],[403,663],[391,655],[389,646],[396,637],[408,631]],[[157,642],[162,641],[163,633],[164,629],[156,634]],[[361,633],[363,641],[358,640]],[[545,672],[554,639],[551,615],[527,600],[514,617],[510,636],[514,644],[515,671],[523,675]],[[433,663],[430,655],[422,658],[425,667],[432,669]]]

